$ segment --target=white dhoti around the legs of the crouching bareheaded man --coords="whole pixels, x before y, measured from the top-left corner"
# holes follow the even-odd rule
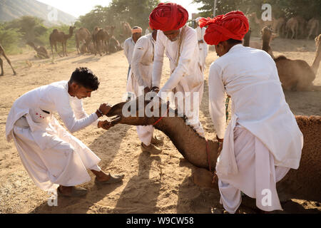
[[[34,132],[22,117],[14,125],[14,143],[31,179],[42,190],[81,185],[91,180],[87,169],[101,171],[100,158],[53,118]]]

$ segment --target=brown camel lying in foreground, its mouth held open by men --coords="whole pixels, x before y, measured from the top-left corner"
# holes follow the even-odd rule
[[[125,102],[113,105],[108,113],[108,117],[116,116],[111,121],[112,125],[154,125],[154,128],[161,130],[168,136],[185,160],[200,168],[193,176],[195,184],[214,187],[211,184],[212,173],[208,170],[209,167],[212,171],[215,170],[218,158],[218,142],[206,140],[198,135],[193,128],[186,125],[184,117],[178,116],[177,110],[168,108],[168,103],[162,103],[159,108],[159,113],[161,113],[161,110],[168,108],[169,115],[165,115],[165,111],[162,113],[162,116],[165,115],[164,118],[160,119],[153,115],[151,117],[138,117],[138,107],[145,108],[148,104],[148,101],[145,101],[143,105],[139,106],[138,100],[142,98],[138,97],[129,101],[130,103],[136,103],[137,108],[133,110],[134,113],[136,111],[136,117],[133,115],[125,117],[123,115],[122,110]],[[298,170],[290,170],[280,182],[277,182],[277,191],[281,200],[295,198],[320,202],[321,147],[319,139],[321,137],[321,116],[295,116],[295,118],[305,140],[300,167]]]

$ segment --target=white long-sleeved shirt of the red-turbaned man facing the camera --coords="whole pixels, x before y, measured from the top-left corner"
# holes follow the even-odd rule
[[[180,28],[180,32],[181,31],[182,28]],[[185,91],[191,91],[203,83],[204,76],[200,69],[198,36],[193,28],[185,27],[177,68],[175,68],[175,66],[178,56],[178,40],[172,42],[164,35],[163,31],[158,31],[152,76],[153,86],[157,86],[158,88],[161,83],[164,52],[170,60],[171,75],[163,88],[161,88],[160,93],[170,92],[178,83],[180,83],[180,86],[182,86]]]

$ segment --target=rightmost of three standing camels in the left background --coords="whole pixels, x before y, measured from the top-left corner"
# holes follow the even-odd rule
[[[106,26],[105,28],[98,28],[96,27],[93,31],[93,43],[95,46],[95,56],[98,51],[99,55],[101,56],[101,46],[103,46],[103,52],[108,54],[108,42],[113,36],[113,31],[115,30],[115,26]]]

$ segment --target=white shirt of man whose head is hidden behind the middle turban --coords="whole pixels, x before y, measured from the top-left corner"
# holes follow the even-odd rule
[[[134,47],[131,69],[139,86],[151,88],[155,43],[152,34],[149,33],[141,36]]]

